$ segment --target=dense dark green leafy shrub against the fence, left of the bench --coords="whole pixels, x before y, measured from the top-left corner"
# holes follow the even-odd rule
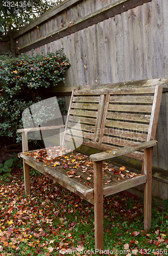
[[[13,137],[19,142],[22,129],[21,114],[24,109],[48,95],[49,86],[63,81],[64,72],[70,67],[62,49],[55,53],[12,55],[0,57],[0,136]],[[45,97],[44,97],[45,95]],[[60,104],[63,101],[60,100]]]

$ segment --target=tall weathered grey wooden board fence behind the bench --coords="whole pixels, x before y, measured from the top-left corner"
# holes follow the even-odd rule
[[[65,0],[19,31],[9,33],[14,56],[31,54],[32,49],[35,54],[42,50],[46,54],[64,48],[72,66],[65,74],[65,84],[51,93],[64,95],[67,104],[75,88],[166,79],[157,127],[158,146],[153,152],[153,165],[157,167],[153,195],[162,199],[168,197],[167,25],[167,0]],[[9,43],[0,40],[0,49],[2,44]]]

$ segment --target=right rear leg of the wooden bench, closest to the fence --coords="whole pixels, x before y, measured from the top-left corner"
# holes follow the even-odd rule
[[[152,215],[152,151],[153,147],[144,150],[144,174],[147,182],[144,184],[144,230],[151,228]]]

